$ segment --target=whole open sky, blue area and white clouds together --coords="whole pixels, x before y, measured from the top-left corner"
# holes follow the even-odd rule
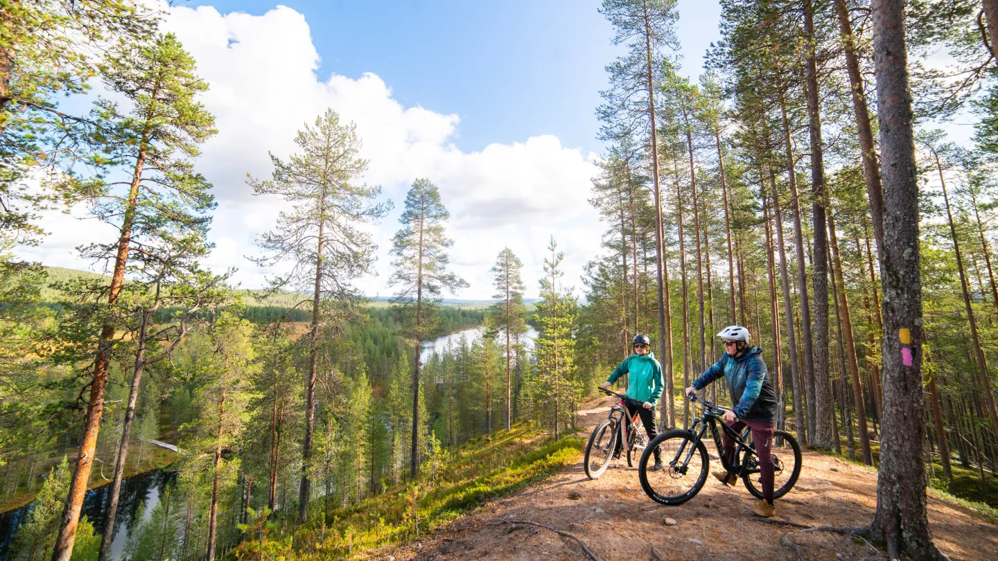
[[[491,297],[495,256],[510,248],[537,294],[545,247],[566,254],[564,282],[581,292],[583,269],[601,252],[605,226],[589,205],[595,109],[605,65],[619,54],[596,0],[504,2],[178,2],[163,28],[174,32],[211,85],[201,96],[219,134],[196,169],[219,203],[206,265],[237,269],[260,287],[281,269],[262,269],[259,236],[287,205],[254,197],[247,174],[266,178],[268,154],[286,158],[303,123],[327,108],[356,124],[370,162],[359,181],[382,187],[395,209],[372,227],[377,275],[357,280],[368,295],[393,291],[388,250],[405,193],[416,178],[440,188],[451,213],[452,269],[470,282],[458,297]],[[682,0],[683,71],[696,79],[718,38],[716,1]],[[96,89],[100,95],[100,89]],[[73,103],[86,103],[76,101]],[[46,265],[101,270],[77,247],[114,238],[86,218],[49,213],[51,231],[21,254]],[[450,294],[446,294],[450,295]]]

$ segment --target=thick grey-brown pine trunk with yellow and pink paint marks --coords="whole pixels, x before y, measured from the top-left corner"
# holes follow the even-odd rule
[[[918,167],[904,39],[904,0],[873,0],[873,64],[883,166],[883,419],[871,533],[887,554],[942,559],[926,512]]]

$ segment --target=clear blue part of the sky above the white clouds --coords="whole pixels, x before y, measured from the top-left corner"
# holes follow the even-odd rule
[[[365,0],[281,2],[303,14],[321,57],[320,77],[380,76],[395,99],[461,118],[454,143],[491,143],[550,134],[599,152],[594,111],[617,55],[612,28],[594,0]],[[220,12],[261,15],[266,0],[195,1]],[[716,40],[717,0],[682,0],[678,33],[684,71],[696,79]]]

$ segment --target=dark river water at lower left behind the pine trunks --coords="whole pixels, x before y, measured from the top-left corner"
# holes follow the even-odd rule
[[[176,473],[169,471],[151,471],[133,475],[122,481],[121,495],[118,499],[118,516],[115,521],[115,539],[111,542],[111,559],[119,560],[128,541],[128,532],[138,527],[134,523],[139,512],[139,505],[144,504],[145,516],[143,522],[153,515],[153,509],[160,502],[160,493],[173,481]],[[83,499],[83,515],[94,524],[94,533],[104,532],[106,521],[105,510],[111,485],[90,489]],[[0,559],[9,559],[13,553],[14,537],[21,524],[27,522],[28,513],[36,503],[29,503],[21,508],[0,513]]]

